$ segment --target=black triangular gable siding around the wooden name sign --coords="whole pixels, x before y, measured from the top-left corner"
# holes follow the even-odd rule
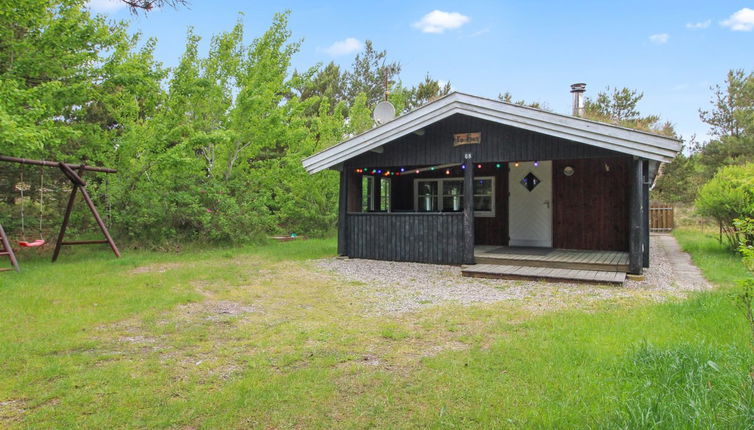
[[[453,146],[453,134],[482,133],[478,145]],[[409,167],[462,162],[464,152],[473,152],[474,162],[559,160],[613,157],[613,151],[534,133],[465,115],[453,115],[383,147],[346,162],[346,167]]]

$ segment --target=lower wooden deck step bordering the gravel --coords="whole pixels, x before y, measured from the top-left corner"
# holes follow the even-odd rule
[[[622,284],[626,280],[626,272],[622,271],[607,272],[604,270],[560,269],[503,264],[473,264],[463,266],[461,274],[476,278],[541,279],[554,282],[588,282],[597,284]]]

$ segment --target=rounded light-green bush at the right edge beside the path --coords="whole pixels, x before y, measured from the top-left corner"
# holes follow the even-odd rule
[[[739,232],[734,221],[754,218],[754,163],[720,169],[699,191],[696,208],[717,221],[731,249],[736,249]]]

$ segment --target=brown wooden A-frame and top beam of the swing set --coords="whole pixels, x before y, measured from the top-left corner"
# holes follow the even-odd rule
[[[66,206],[65,215],[63,216],[63,223],[60,225],[60,232],[58,233],[58,240],[57,242],[55,242],[55,251],[52,253],[53,262],[57,261],[58,257],[60,256],[61,248],[63,246],[72,246],[72,245],[94,245],[94,244],[106,243],[110,246],[110,249],[112,249],[115,256],[120,257],[120,251],[118,250],[118,247],[115,245],[115,241],[113,241],[112,236],[110,236],[110,232],[108,231],[107,226],[105,225],[105,222],[102,220],[102,217],[97,211],[97,207],[94,205],[92,198],[89,196],[89,192],[86,190],[86,181],[84,181],[81,178],[84,175],[84,172],[86,171],[112,174],[112,173],[118,173],[117,170],[109,169],[106,167],[87,166],[85,164],[70,164],[70,163],[64,163],[62,161],[31,160],[27,158],[8,157],[5,155],[0,155],[0,161],[5,161],[9,163],[18,163],[18,164],[30,164],[30,165],[35,165],[35,166],[57,167],[58,169],[60,169],[60,171],[63,172],[66,178],[68,178],[68,180],[71,181],[73,188],[71,189],[71,195],[68,198],[68,205]],[[105,239],[103,240],[79,240],[79,241],[65,241],[64,240],[65,232],[66,232],[66,229],[68,228],[68,221],[70,220],[71,212],[73,212],[73,205],[76,201],[76,193],[78,191],[81,191],[81,195],[84,198],[86,205],[89,207],[89,211],[91,211],[92,215],[94,215],[94,219],[97,221],[97,225],[102,231],[102,234],[105,236]],[[10,258],[11,264],[13,265],[13,267],[16,270],[19,270],[18,262],[16,260],[15,255],[13,254],[13,250],[10,249],[10,244],[8,243],[7,236],[5,235],[5,232],[2,230],[2,227],[0,227],[0,236],[2,236],[1,238],[2,245],[5,248],[2,252],[0,252],[0,256],[7,255]]]

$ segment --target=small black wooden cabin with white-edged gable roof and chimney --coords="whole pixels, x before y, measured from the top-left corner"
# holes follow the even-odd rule
[[[576,111],[583,91],[572,86]],[[666,136],[454,92],[303,165],[340,171],[343,256],[471,265],[493,250],[578,250],[625,258],[624,272],[641,274],[649,187],[680,149]]]

